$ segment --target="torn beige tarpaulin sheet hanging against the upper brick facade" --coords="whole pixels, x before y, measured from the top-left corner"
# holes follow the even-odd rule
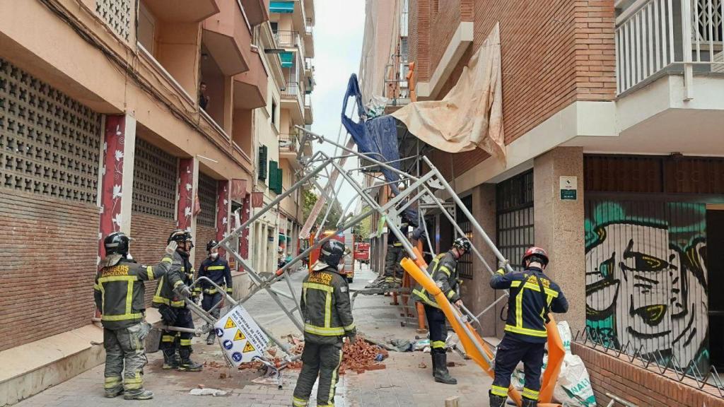
[[[445,98],[413,102],[392,116],[439,150],[459,153],[479,147],[505,161],[501,84],[500,27],[496,24]]]

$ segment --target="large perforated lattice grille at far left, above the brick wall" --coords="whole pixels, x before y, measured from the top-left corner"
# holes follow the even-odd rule
[[[0,182],[95,204],[101,116],[0,59]]]

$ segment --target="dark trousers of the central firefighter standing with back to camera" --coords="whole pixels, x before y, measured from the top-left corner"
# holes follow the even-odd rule
[[[319,377],[317,407],[334,406],[334,387],[340,378],[342,342],[334,345],[306,342],[302,352],[302,371],[294,389],[292,405],[306,407],[312,387]]]

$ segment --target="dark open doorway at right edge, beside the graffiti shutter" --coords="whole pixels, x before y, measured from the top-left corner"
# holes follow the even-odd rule
[[[709,288],[709,349],[712,365],[724,369],[724,205],[707,205],[707,281]]]

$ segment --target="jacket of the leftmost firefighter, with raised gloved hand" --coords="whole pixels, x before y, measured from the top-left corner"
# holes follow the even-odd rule
[[[96,274],[93,298],[101,311],[101,323],[109,330],[131,327],[143,321],[146,311],[144,281],[163,278],[171,268],[171,256],[159,264],[143,266],[127,259],[103,267]]]

